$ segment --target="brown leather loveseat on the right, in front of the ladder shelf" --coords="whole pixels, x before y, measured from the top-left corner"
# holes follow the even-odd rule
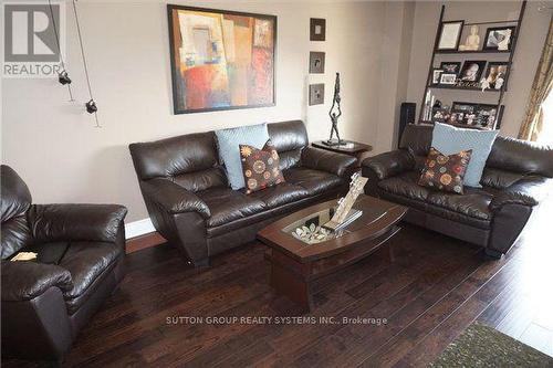
[[[365,193],[409,207],[405,220],[486,248],[500,257],[517,241],[533,207],[553,192],[553,148],[498,137],[486,164],[482,188],[465,194],[417,185],[432,127],[409,125],[398,150],[366,159]]]

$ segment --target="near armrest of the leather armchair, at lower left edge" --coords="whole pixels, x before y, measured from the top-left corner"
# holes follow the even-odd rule
[[[2,262],[2,302],[29,301],[52,286],[62,292],[71,290],[73,281],[70,272],[55,264]]]

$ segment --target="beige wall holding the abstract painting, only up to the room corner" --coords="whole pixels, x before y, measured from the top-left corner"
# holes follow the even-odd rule
[[[171,3],[179,3],[175,0]],[[67,12],[69,70],[79,103],[53,80],[2,81],[2,162],[36,202],[118,202],[127,221],[147,217],[127,145],[192,132],[302,118],[312,140],[330,133],[334,72],[342,74],[344,137],[375,143],[383,2],[180,1],[278,15],[276,106],[173,115],[166,6],[160,1],[80,1],[81,23],[102,128],[87,99]],[[309,41],[310,17],[326,18],[327,41]],[[387,45],[389,46],[389,45]],[[326,74],[309,75],[309,51],[326,52]],[[307,107],[307,84],[324,82],[324,106]],[[392,112],[390,112],[392,113]],[[388,120],[392,117],[388,118]]]

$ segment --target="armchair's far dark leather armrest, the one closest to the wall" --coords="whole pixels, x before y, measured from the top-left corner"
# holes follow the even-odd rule
[[[39,242],[115,242],[126,214],[118,204],[33,204],[28,220]]]

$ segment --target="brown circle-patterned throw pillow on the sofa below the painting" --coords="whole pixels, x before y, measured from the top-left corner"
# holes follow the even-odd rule
[[[279,168],[279,154],[270,139],[263,149],[240,145],[240,158],[247,194],[284,182]]]

